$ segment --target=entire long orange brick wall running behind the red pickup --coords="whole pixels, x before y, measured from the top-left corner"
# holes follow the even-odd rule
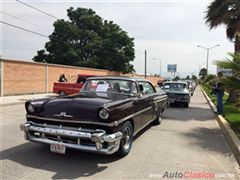
[[[31,93],[52,92],[53,83],[57,82],[60,74],[65,74],[69,82],[75,82],[77,74],[94,75],[121,75],[119,72],[64,66],[56,64],[44,64],[34,62],[23,62],[14,60],[1,60],[1,85],[3,85],[1,95],[17,95]],[[143,75],[127,74],[144,78]],[[157,84],[160,77],[148,76],[148,80]]]

